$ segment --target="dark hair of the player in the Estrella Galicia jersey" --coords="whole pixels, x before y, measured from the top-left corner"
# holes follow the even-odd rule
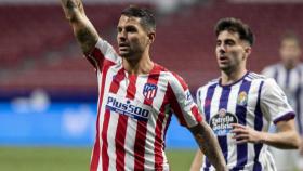
[[[220,19],[215,25],[215,35],[219,36],[224,30],[239,34],[240,39],[247,41],[250,45],[254,42],[254,36],[249,26],[238,18],[226,17]]]

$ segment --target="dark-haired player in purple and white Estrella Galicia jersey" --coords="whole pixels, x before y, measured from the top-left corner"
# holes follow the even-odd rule
[[[222,18],[215,35],[221,77],[198,89],[198,107],[216,135],[229,170],[275,170],[267,145],[298,148],[294,113],[274,79],[247,70],[253,44],[248,25]],[[277,133],[267,132],[271,122]],[[199,169],[215,170],[198,152],[192,170]]]

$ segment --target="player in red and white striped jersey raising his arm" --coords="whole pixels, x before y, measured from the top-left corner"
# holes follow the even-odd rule
[[[156,36],[154,14],[136,6],[123,10],[116,52],[98,36],[80,0],[61,2],[97,74],[96,139],[90,170],[169,170],[164,136],[172,114],[192,131],[215,168],[226,170],[219,143],[186,83],[149,57]]]

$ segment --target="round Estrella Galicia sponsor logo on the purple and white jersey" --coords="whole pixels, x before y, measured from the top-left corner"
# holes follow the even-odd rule
[[[214,134],[218,136],[226,136],[233,130],[230,123],[237,122],[238,118],[235,115],[227,113],[224,108],[221,108],[218,114],[210,119],[209,124]]]

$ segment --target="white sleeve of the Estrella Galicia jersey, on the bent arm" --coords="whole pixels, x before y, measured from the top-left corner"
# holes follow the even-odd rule
[[[264,86],[261,92],[261,107],[266,118],[271,118],[276,124],[281,120],[294,118],[294,111],[289,105],[284,91],[272,78],[264,80]]]

